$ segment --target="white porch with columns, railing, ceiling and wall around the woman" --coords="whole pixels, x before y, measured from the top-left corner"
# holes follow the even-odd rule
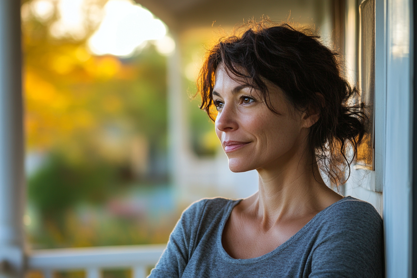
[[[373,3],[374,45],[364,44],[361,3]],[[201,158],[191,150],[190,127],[183,84],[185,38],[208,34],[215,22],[224,30],[242,18],[268,15],[275,21],[294,20],[315,24],[322,39],[344,54],[347,78],[363,83],[364,48],[374,55],[374,155],[372,165],[352,170],[343,195],[366,200],[384,219],[386,273],[389,278],[417,275],[417,112],[414,57],[414,15],[409,0],[296,0],[206,1],[137,0],[169,28],[176,43],[168,57],[168,137],[170,174],[182,203],[201,198],[192,187],[214,194],[246,197],[256,191],[256,173],[225,171],[221,153]],[[363,8],[363,6],[362,6]],[[291,15],[289,11],[291,10]],[[371,24],[372,25],[372,24]],[[361,33],[362,32],[362,33]],[[84,270],[87,278],[99,278],[108,268],[129,268],[132,277],[146,277],[157,262],[163,245],[28,250],[23,232],[25,206],[23,107],[21,79],[20,3],[0,3],[0,275],[23,277],[40,270],[52,278],[58,270]],[[413,60],[414,59],[414,60]],[[362,86],[364,86],[362,84]],[[213,176],[219,177],[213,181]],[[242,185],[244,185],[242,187]],[[244,189],[242,189],[244,188]],[[228,196],[229,196],[228,195]]]

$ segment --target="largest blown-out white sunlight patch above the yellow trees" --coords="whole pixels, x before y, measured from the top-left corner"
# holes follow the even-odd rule
[[[140,5],[130,0],[109,0],[104,6],[103,21],[88,40],[88,46],[95,55],[128,57],[146,45],[146,41],[161,40],[156,47],[166,54],[175,48],[166,32],[162,21]]]

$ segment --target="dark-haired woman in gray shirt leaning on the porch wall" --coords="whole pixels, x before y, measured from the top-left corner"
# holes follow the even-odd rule
[[[230,170],[256,169],[259,191],[193,203],[149,277],[383,276],[381,217],[319,170],[343,183],[364,135],[336,57],[286,24],[255,24],[209,50],[201,108]]]

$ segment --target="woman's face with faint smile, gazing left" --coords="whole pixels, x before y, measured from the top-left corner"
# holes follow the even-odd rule
[[[236,80],[223,66],[216,70],[216,134],[229,158],[230,170],[245,172],[286,165],[300,148],[305,148],[309,127],[305,113],[291,108],[282,91],[270,86],[271,103],[279,113],[275,114],[256,90]]]

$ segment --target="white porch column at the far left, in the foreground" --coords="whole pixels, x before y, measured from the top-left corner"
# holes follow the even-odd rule
[[[20,1],[0,0],[0,277],[23,276]]]

